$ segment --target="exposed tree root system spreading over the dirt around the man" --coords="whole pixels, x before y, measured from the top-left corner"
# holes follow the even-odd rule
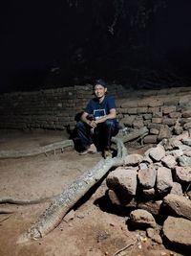
[[[112,142],[117,144],[117,156],[114,158],[101,159],[96,166],[85,174],[79,176],[68,189],[64,190],[60,195],[52,198],[52,202],[48,209],[39,217],[39,219],[32,224],[32,227],[24,234],[22,234],[17,243],[24,243],[30,240],[39,239],[55,228],[63,217],[72,209],[79,198],[82,198],[89,189],[96,184],[104,175],[106,175],[112,167],[121,166],[124,164],[124,157],[127,150],[123,143],[143,137],[148,134],[147,128],[140,128],[129,134],[113,137]],[[66,140],[62,142],[53,143],[39,149],[28,151],[0,151],[0,158],[17,158],[24,156],[32,156],[48,151],[55,151],[57,149],[63,150],[66,147],[74,147],[73,140]],[[48,199],[48,198],[45,198]],[[1,199],[0,202],[10,202],[15,204],[32,204],[42,202],[40,200],[22,201],[12,198],[6,200]]]

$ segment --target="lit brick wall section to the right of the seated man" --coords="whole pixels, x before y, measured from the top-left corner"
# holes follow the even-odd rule
[[[138,91],[117,100],[121,128],[147,127],[144,143],[157,143],[191,128],[189,87]]]

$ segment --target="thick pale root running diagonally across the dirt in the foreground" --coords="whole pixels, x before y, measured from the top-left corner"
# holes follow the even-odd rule
[[[101,159],[92,170],[79,176],[68,189],[53,199],[49,208],[39,217],[38,221],[21,235],[18,243],[36,240],[51,232],[79,198],[82,198],[100,178],[106,175],[112,167],[123,165],[124,157],[127,154],[126,148],[120,139],[114,137],[112,141],[117,144],[117,156]]]

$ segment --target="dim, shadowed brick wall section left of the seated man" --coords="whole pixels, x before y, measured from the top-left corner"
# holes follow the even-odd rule
[[[122,91],[122,86],[111,86],[117,98]],[[75,115],[92,94],[92,85],[86,85],[0,95],[0,128],[74,128]]]

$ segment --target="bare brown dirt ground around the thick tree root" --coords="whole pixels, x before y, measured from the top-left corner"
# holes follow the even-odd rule
[[[0,151],[30,149],[67,138],[64,131],[1,130]],[[105,197],[105,180],[85,196],[50,234],[38,241],[17,244],[19,236],[49,206],[50,198],[65,190],[77,176],[90,170],[100,159],[99,153],[78,155],[74,149],[0,159],[1,202],[11,199],[35,202],[0,204],[0,256],[178,255],[145,239],[144,231],[128,230],[127,214],[117,211]]]

